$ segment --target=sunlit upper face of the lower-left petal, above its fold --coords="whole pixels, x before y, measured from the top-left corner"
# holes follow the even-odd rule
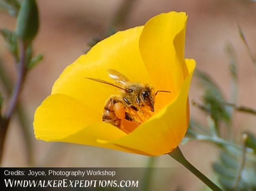
[[[70,135],[88,124],[100,121],[97,111],[67,95],[48,96],[36,109],[36,138],[52,141]]]

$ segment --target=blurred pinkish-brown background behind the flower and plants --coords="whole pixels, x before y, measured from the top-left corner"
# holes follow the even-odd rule
[[[250,0],[44,0],[37,1],[40,30],[34,41],[34,52],[44,59],[28,73],[20,100],[27,116],[28,137],[20,128],[17,117],[9,126],[2,167],[146,167],[148,157],[106,150],[85,145],[46,143],[33,137],[33,114],[50,94],[53,82],[63,69],[87,52],[93,40],[106,37],[111,28],[125,30],[145,24],[149,18],[163,12],[185,11],[188,14],[185,57],[194,58],[197,69],[207,72],[222,89],[226,98],[231,92],[229,56],[225,47],[232,43],[236,51],[239,105],[256,108],[256,68],[238,33],[240,25],[251,50],[256,50],[256,2]],[[16,20],[0,12],[0,28],[15,29]],[[0,63],[14,81],[16,69],[13,58],[0,37]],[[0,85],[0,90],[4,88]],[[201,102],[203,89],[194,76],[190,99]],[[4,96],[6,100],[8,97]],[[191,116],[207,124],[207,115],[191,104]],[[234,113],[235,141],[241,132],[256,133],[256,117]],[[29,141],[26,141],[29,139]],[[31,148],[28,154],[27,146]],[[189,141],[181,149],[187,159],[213,180],[212,163],[218,160],[216,145]],[[170,169],[165,176],[169,190],[200,190],[203,183],[169,156],[159,156],[157,167]]]

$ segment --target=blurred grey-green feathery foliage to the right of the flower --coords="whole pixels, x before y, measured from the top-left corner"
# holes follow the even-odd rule
[[[239,34],[247,50],[249,50],[245,36],[240,28]],[[191,140],[207,141],[220,148],[219,159],[213,163],[212,167],[218,177],[218,182],[224,190],[256,190],[256,136],[252,132],[244,132],[243,136],[240,135],[241,139],[230,139],[230,137],[237,137],[232,129],[232,124],[236,122],[232,116],[233,111],[252,115],[255,115],[256,112],[255,109],[236,105],[238,88],[236,53],[230,43],[226,46],[225,50],[229,58],[232,81],[231,98],[228,101],[224,97],[220,87],[207,73],[197,71],[200,84],[204,88],[204,94],[202,103],[194,101],[192,103],[206,113],[208,116],[207,125],[205,126],[192,118],[183,143]],[[252,57],[250,50],[248,52],[249,56]],[[253,58],[252,62],[254,63]],[[223,135],[220,127],[228,131],[228,137]]]

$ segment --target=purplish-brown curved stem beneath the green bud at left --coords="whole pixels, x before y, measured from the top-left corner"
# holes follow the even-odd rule
[[[26,46],[24,43],[20,43],[20,61],[18,63],[18,78],[16,81],[16,85],[11,94],[11,98],[9,101],[9,105],[7,107],[6,113],[3,115],[1,124],[0,124],[0,160],[2,159],[3,148],[4,148],[4,140],[6,137],[6,132],[9,126],[9,122],[13,115],[13,112],[16,109],[18,103],[18,97],[20,95],[20,91],[22,89],[22,84],[24,82],[25,74],[26,74]]]

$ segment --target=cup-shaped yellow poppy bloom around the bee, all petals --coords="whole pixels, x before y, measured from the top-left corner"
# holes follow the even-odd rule
[[[188,127],[188,91],[196,65],[193,59],[184,59],[186,22],[186,13],[162,13],[145,26],[102,40],[80,56],[62,72],[51,95],[36,110],[36,138],[149,156],[171,152]],[[105,103],[118,89],[85,78],[110,81],[108,69],[131,82],[171,91],[156,96],[154,115],[129,134],[102,122]]]

